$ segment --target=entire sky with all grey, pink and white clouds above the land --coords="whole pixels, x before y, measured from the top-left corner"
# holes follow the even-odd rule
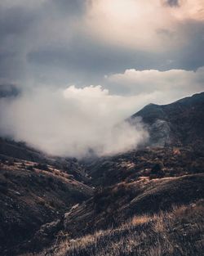
[[[2,0],[0,34],[0,135],[49,154],[132,148],[122,119],[204,91],[202,0]]]

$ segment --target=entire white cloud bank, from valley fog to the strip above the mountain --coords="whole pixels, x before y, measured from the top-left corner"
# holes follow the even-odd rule
[[[113,155],[148,140],[142,120],[124,120],[150,102],[166,104],[204,90],[204,68],[125,70],[106,84],[36,87],[0,98],[0,136],[26,141],[51,155]],[[114,92],[114,87],[117,88]],[[117,92],[124,90],[121,95]],[[16,92],[16,91],[14,91]]]

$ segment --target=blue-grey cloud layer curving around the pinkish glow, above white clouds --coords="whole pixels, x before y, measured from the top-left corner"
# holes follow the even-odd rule
[[[0,78],[17,79],[22,84],[33,80],[36,84],[85,85],[104,83],[104,74],[131,68],[197,70],[204,65],[201,21],[184,22],[177,32],[168,28],[157,31],[168,40],[182,34],[185,43],[181,48],[144,52],[115,47],[73,28],[73,21],[82,18],[86,7],[82,0],[51,0],[38,7],[0,7]],[[60,24],[55,28],[56,22]]]

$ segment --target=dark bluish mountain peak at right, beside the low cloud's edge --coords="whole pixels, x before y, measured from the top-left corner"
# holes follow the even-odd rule
[[[142,117],[151,146],[202,146],[204,141],[204,92],[168,105],[149,104],[131,116]]]

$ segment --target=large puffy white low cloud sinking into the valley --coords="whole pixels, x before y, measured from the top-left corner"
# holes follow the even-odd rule
[[[110,155],[148,137],[140,120],[123,121],[132,107],[129,97],[109,95],[100,86],[38,88],[0,101],[0,131],[52,155]]]

